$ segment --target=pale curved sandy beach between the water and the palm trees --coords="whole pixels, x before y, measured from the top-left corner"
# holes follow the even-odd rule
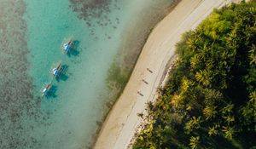
[[[183,32],[195,29],[212,9],[231,1],[238,0],[182,0],[155,26],[123,94],[109,112],[94,148],[123,149],[129,146],[142,123],[137,113],[145,112],[146,103],[155,99],[157,88],[166,73],[166,64],[174,55],[175,43]]]

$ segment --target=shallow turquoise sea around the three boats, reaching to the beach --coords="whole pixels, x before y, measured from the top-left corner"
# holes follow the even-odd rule
[[[90,147],[113,63],[131,71],[172,0],[0,0],[0,148]],[[76,48],[63,54],[72,37]],[[61,62],[56,80],[50,70]],[[129,71],[128,71],[129,72]],[[114,76],[114,75],[113,75]],[[44,83],[52,82],[49,97]],[[108,105],[108,104],[107,104]]]

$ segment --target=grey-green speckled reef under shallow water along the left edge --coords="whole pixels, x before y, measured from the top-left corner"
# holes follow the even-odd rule
[[[0,148],[34,148],[38,141],[30,132],[39,123],[40,99],[32,95],[28,76],[29,49],[23,1],[2,0],[0,5]],[[46,118],[46,117],[44,117]]]

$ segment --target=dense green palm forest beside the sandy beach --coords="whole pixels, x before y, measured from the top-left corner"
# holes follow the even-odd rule
[[[255,1],[231,4],[183,35],[134,149],[256,147],[255,19]]]

